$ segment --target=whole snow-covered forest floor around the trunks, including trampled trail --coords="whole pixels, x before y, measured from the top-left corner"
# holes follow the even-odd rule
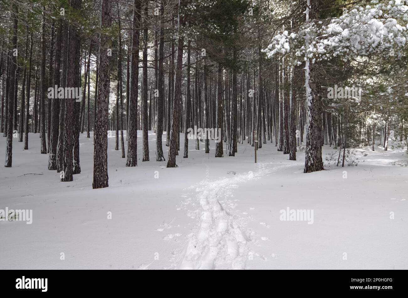
[[[29,150],[14,139],[13,167],[0,167],[0,209],[33,216],[32,224],[0,221],[0,269],[408,269],[408,172],[392,165],[407,159],[406,147],[357,148],[368,155],[356,167],[325,163],[304,174],[304,152],[290,161],[270,142],[255,164],[246,141],[235,157],[224,143],[224,158],[215,158],[214,141],[206,154],[190,140],[182,158],[182,135],[179,167],[167,169],[155,161],[155,134],[149,162],[141,141],[138,131],[130,168],[109,138],[109,188],[93,190],[92,133],[80,135],[73,182],[47,169],[39,134],[29,134]],[[331,151],[325,145],[323,158]],[[280,220],[287,209],[313,217]]]

